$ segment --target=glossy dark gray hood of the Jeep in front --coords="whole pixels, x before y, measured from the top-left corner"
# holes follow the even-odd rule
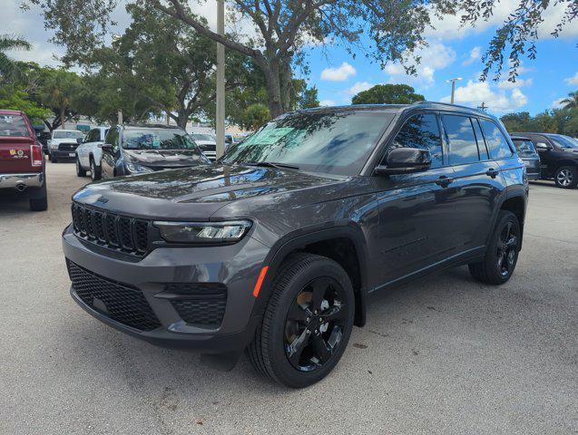
[[[208,220],[217,210],[234,202],[262,206],[278,202],[279,195],[338,184],[346,179],[292,169],[202,165],[101,180],[76,192],[73,199],[135,217]],[[330,192],[337,194],[336,190],[324,190],[325,195],[308,195],[307,200],[328,200]]]

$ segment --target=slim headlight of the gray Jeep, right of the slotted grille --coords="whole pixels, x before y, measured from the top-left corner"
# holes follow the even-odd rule
[[[230,243],[239,241],[251,226],[249,220],[230,222],[154,222],[167,242]]]

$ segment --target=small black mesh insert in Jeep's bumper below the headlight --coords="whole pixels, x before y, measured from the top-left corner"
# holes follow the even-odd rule
[[[169,284],[172,307],[187,324],[217,328],[227,305],[227,286],[220,283]],[[178,296],[180,297],[178,297]]]

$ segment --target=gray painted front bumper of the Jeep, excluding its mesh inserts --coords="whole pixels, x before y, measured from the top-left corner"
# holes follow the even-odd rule
[[[64,256],[74,265],[142,293],[160,324],[150,331],[116,321],[83,302],[73,286],[70,290],[74,301],[89,314],[149,343],[201,353],[239,352],[250,343],[260,322],[259,317],[251,315],[255,303],[252,288],[269,249],[249,236],[224,247],[158,247],[141,259],[131,260],[103,248],[93,249],[90,242],[76,237],[68,227],[63,248]],[[184,321],[171,300],[163,297],[167,285],[177,283],[226,285],[227,301],[220,324],[209,328]]]

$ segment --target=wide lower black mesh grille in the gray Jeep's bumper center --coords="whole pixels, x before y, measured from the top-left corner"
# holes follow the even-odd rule
[[[162,326],[138,288],[93,274],[70,260],[66,265],[74,292],[93,310],[139,331]]]

